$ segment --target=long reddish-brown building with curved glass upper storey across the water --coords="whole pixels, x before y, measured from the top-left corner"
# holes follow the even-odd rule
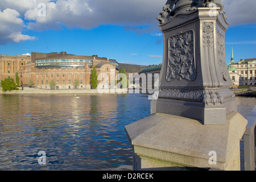
[[[97,75],[108,74],[109,84],[110,69],[118,73],[117,61],[106,57],[76,56],[66,52],[32,52],[31,56],[0,55],[0,80],[6,77],[15,80],[15,73],[18,72],[19,82],[23,86],[32,82],[37,88],[50,89],[53,80],[55,89],[90,89],[93,66],[96,67]]]

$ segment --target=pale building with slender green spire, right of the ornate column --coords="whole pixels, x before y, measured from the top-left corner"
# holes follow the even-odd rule
[[[230,64],[228,67],[229,75],[236,86],[256,86],[256,58],[240,60],[234,62],[233,47]]]

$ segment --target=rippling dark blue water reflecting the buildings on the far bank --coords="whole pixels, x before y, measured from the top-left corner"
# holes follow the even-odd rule
[[[247,117],[256,98],[237,102]],[[0,105],[0,170],[130,170],[124,127],[150,115],[143,94],[0,95]]]

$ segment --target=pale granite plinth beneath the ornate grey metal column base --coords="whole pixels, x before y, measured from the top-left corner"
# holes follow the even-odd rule
[[[177,115],[152,114],[125,127],[133,146],[133,169],[239,171],[246,125],[239,113],[229,113],[226,125],[209,126]]]

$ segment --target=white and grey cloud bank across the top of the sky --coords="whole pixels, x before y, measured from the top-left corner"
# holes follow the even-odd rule
[[[39,3],[46,5],[46,16],[38,15]],[[156,17],[165,3],[166,0],[0,0],[0,44],[33,40],[22,34],[26,28],[90,29],[102,24],[120,25],[137,34],[160,36]],[[222,3],[230,26],[256,23],[255,0],[222,0]]]

